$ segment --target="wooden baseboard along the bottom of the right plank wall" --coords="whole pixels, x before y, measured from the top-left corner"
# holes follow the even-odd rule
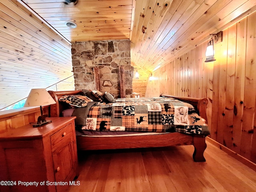
[[[214,146],[220,148],[222,151],[226,152],[236,160],[240,161],[241,163],[245,164],[246,166],[250,167],[252,170],[256,171],[256,164],[251,162],[250,160],[244,158],[243,156],[237,154],[236,152],[232,151],[231,149],[225,147],[224,145],[216,142],[215,140],[211,139],[210,137],[206,137],[206,141],[210,142]]]

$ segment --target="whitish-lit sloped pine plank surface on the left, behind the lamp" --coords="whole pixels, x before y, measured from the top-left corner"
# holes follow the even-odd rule
[[[0,1],[0,110],[62,80],[74,89],[70,42],[19,2]]]

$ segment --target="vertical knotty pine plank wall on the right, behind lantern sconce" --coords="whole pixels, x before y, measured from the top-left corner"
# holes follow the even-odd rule
[[[256,13],[223,31],[215,62],[204,62],[207,42],[153,73],[146,96],[206,97],[210,137],[256,163]],[[162,86],[164,85],[164,86]]]

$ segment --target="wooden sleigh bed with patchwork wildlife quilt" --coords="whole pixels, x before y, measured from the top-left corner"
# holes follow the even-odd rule
[[[56,104],[50,105],[50,111],[49,116],[50,117],[61,117],[63,116],[63,112],[67,111],[70,108],[70,103],[63,102],[63,98],[67,98],[69,96],[84,96],[85,93],[83,90],[76,90],[76,91],[48,91],[52,98],[56,101]],[[62,99],[62,101],[60,101]],[[143,100],[145,99],[145,100]],[[128,104],[128,108],[125,108],[123,110],[123,117],[117,117],[117,118],[131,118],[132,120],[128,120],[128,123],[126,123],[126,126],[120,127],[118,125],[118,121],[124,121],[118,119],[115,123],[108,123],[108,120],[105,119],[106,117],[102,118],[100,122],[95,120],[94,124],[97,124],[97,126],[82,126],[79,127],[79,129],[87,129],[88,132],[97,132],[97,133],[105,133],[105,132],[111,132],[110,129],[112,129],[112,132],[118,132],[117,135],[84,135],[81,133],[81,131],[77,131],[76,136],[76,142],[78,150],[104,150],[104,149],[122,149],[122,148],[150,148],[150,147],[164,147],[164,146],[177,146],[177,145],[193,145],[194,146],[194,153],[192,155],[193,160],[195,162],[204,162],[206,161],[204,158],[204,151],[206,149],[206,142],[205,138],[208,134],[210,134],[208,127],[207,127],[207,116],[206,116],[206,105],[208,104],[208,100],[206,98],[189,98],[189,97],[177,97],[177,96],[170,96],[166,94],[161,94],[160,97],[151,98],[153,101],[160,100],[160,102],[156,102],[156,104],[148,104],[150,103],[149,98],[120,98],[115,100],[114,102],[88,102],[87,108],[98,108],[98,111],[101,111],[99,107],[102,103],[107,103],[107,108],[112,106],[114,109],[120,109],[123,106],[125,106],[126,102],[133,102],[131,105]],[[127,101],[128,100],[128,101]],[[139,102],[143,100],[143,107],[137,106],[140,105]],[[148,100],[148,102],[147,102]],[[173,125],[170,126],[170,128],[167,128],[168,126],[162,126],[160,123],[156,123],[159,121],[168,121],[168,118],[161,118],[159,117],[158,120],[151,120],[153,122],[150,122],[151,116],[150,112],[148,112],[148,116],[146,116],[146,112],[141,112],[145,110],[145,108],[150,108],[152,110],[155,110],[155,108],[158,108],[159,110],[159,103],[160,103],[160,110],[163,111],[163,113],[168,114],[168,110],[171,109],[172,104],[166,104],[167,101],[171,102],[174,101],[174,103],[178,104],[176,106],[175,110],[176,112],[172,112],[172,122],[174,122],[173,119],[176,118],[177,123],[179,125]],[[135,102],[135,103],[134,103]],[[152,102],[152,101],[151,101]],[[162,102],[162,103],[161,103]],[[183,102],[186,102],[183,104]],[[120,104],[122,103],[122,104]],[[154,102],[153,102],[154,103]],[[174,106],[176,105],[174,104]],[[135,110],[130,109],[130,106],[135,105]],[[185,109],[189,109],[190,112],[185,111],[184,108],[180,106],[188,106],[185,107]],[[74,108],[74,107],[73,107]],[[84,110],[85,108],[79,108],[75,107],[78,110]],[[106,106],[105,106],[106,108]],[[111,107],[110,107],[111,108]],[[140,109],[138,111],[138,108]],[[181,109],[182,108],[182,109]],[[129,111],[130,110],[130,111]],[[108,110],[106,110],[108,112]],[[118,111],[118,110],[117,110]],[[124,112],[125,111],[125,112]],[[150,111],[150,110],[148,110]],[[165,112],[164,112],[165,111]],[[99,112],[97,112],[98,115]],[[114,113],[114,112],[113,112]],[[127,115],[127,113],[134,113]],[[162,113],[162,112],[158,112]],[[183,117],[184,114],[190,114],[186,117],[186,120],[184,121]],[[102,111],[101,111],[102,114]],[[105,113],[108,115],[108,113]],[[92,122],[95,118],[94,112],[88,112],[87,113],[87,124],[88,122]],[[97,117],[96,115],[96,117]],[[152,114],[151,114],[152,115]],[[180,116],[181,115],[181,116]],[[73,115],[74,116],[74,115]],[[114,114],[111,115],[112,117],[115,116]],[[116,115],[118,116],[118,115]],[[120,116],[120,114],[119,114]],[[122,116],[122,115],[121,115]],[[155,118],[155,115],[153,115]],[[174,116],[174,117],[173,117]],[[142,118],[141,118],[142,117]],[[79,119],[79,117],[77,116]],[[153,119],[154,119],[153,118]],[[158,117],[156,117],[158,118]],[[103,120],[103,124],[102,124]],[[106,120],[106,121],[104,121]],[[126,120],[127,121],[127,120]],[[135,124],[134,124],[135,121]],[[132,122],[132,123],[131,123]],[[191,126],[192,123],[196,123],[197,125],[194,126],[194,124]],[[183,123],[190,124],[189,126],[183,126]],[[93,123],[92,123],[93,124]],[[102,125],[101,125],[102,124]],[[140,124],[140,125],[139,125]],[[150,126],[149,126],[150,124]],[[156,125],[155,125],[156,124]],[[164,124],[164,123],[161,123]],[[170,122],[167,122],[165,124],[170,124]],[[136,125],[136,126],[134,126]],[[140,128],[142,126],[142,128]],[[148,128],[146,128],[148,127]],[[182,128],[182,127],[185,127]],[[196,127],[194,129],[194,127]],[[198,127],[200,130],[198,131]],[[203,128],[201,128],[203,127]],[[113,131],[113,129],[120,129],[121,131]],[[89,130],[88,130],[89,129]],[[161,131],[164,130],[164,131]],[[177,131],[178,130],[178,131]],[[189,130],[187,132],[187,130]],[[82,130],[83,131],[83,130]],[[139,131],[139,133],[137,133]],[[120,135],[119,133],[126,133]]]

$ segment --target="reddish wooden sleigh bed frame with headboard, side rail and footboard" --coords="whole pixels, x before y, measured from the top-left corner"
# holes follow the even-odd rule
[[[81,94],[82,91],[48,91],[56,104],[50,105],[49,116],[60,117],[62,111],[67,108],[66,103],[59,102],[58,99],[64,95]],[[171,97],[192,104],[198,114],[206,117],[206,98],[189,98],[178,97],[161,94],[162,97]],[[103,149],[121,149],[121,148],[149,148],[149,147],[164,147],[177,145],[193,145],[193,159],[195,162],[204,162],[204,150],[206,149],[205,135],[187,135],[179,132],[143,135],[143,136],[123,136],[123,137],[85,137],[76,136],[78,150],[103,150]]]

